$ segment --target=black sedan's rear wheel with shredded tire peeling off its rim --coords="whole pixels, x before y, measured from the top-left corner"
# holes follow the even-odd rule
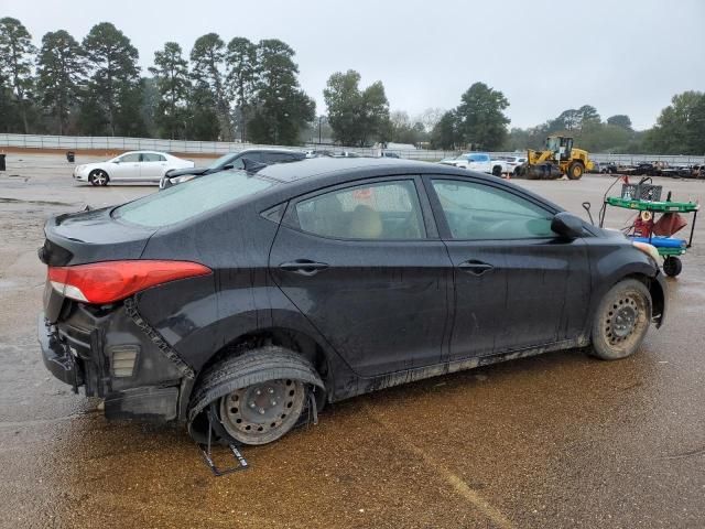
[[[249,350],[209,367],[199,378],[188,412],[192,423],[215,403],[220,424],[236,442],[276,441],[299,421],[308,386],[323,382],[308,360],[279,346]],[[195,435],[194,435],[195,436]]]

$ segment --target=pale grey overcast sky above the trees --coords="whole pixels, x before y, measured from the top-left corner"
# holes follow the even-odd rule
[[[674,94],[705,89],[705,0],[0,0],[39,45],[47,31],[80,40],[112,22],[152,64],[176,41],[276,37],[296,52],[300,80],[324,111],[333,72],[382,80],[392,110],[449,109],[473,83],[505,93],[512,127],[593,105],[651,127]]]

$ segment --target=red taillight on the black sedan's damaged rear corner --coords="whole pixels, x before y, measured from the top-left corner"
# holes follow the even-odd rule
[[[66,298],[104,304],[150,287],[212,273],[188,261],[105,261],[75,267],[48,267],[48,280]]]

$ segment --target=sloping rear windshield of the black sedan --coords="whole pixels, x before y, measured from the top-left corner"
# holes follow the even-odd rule
[[[241,201],[274,184],[245,172],[224,171],[119,206],[113,209],[112,217],[139,226],[160,228]]]

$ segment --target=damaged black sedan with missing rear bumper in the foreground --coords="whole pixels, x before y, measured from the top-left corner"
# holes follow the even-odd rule
[[[665,314],[648,245],[423,162],[224,171],[45,234],[46,367],[199,441],[268,443],[326,402],[510,358],[623,358]]]

